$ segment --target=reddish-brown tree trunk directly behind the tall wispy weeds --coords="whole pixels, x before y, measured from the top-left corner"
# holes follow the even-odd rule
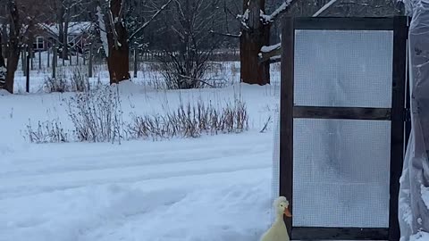
[[[113,20],[119,16],[122,0],[111,0],[110,11]],[[109,18],[108,14],[105,18]],[[105,21],[108,27],[107,42],[109,53],[107,54],[107,67],[109,69],[110,84],[119,83],[122,80],[130,79],[130,46],[128,45],[128,31],[123,26],[123,21]],[[116,32],[116,36],[114,34]]]

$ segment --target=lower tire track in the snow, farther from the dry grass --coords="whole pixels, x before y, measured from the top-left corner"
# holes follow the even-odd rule
[[[235,157],[235,156],[233,156]],[[231,162],[231,156],[189,162],[142,164],[121,168],[77,170],[35,176],[1,178],[0,200],[7,197],[35,195],[76,187],[106,183],[136,182],[147,179],[168,179],[189,175],[264,169],[271,166],[266,153],[240,155]],[[249,160],[252,160],[251,162]],[[55,181],[53,181],[55,180]]]

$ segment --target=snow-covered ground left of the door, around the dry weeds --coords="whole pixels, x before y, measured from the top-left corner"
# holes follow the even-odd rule
[[[278,106],[280,72],[272,68],[274,84],[256,87],[237,83],[238,63],[222,65],[214,79],[227,79],[224,87],[186,91],[156,87],[159,72],[140,71],[118,87],[123,116],[240,98],[248,131],[121,145],[30,144],[29,122],[60,120],[72,129],[65,103],[74,93],[44,93],[50,73],[35,70],[25,94],[18,73],[21,94],[0,93],[0,240],[258,240],[273,217],[268,120]],[[106,83],[106,77],[98,70],[91,81]]]

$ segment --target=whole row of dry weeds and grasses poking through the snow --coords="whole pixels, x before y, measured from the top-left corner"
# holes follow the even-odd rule
[[[31,143],[64,142],[121,142],[122,138],[162,139],[170,137],[200,137],[203,134],[240,133],[248,129],[246,104],[239,99],[220,104],[206,104],[203,100],[183,104],[173,111],[164,109],[155,115],[132,115],[122,120],[118,87],[98,86],[76,93],[67,102],[67,113],[74,126],[64,131],[61,122],[38,122],[38,128],[27,126],[26,137]],[[72,135],[71,135],[72,134]]]

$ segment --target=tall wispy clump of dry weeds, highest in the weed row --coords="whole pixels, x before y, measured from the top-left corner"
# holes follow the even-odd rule
[[[67,112],[79,141],[121,141],[122,110],[119,90],[100,86],[76,93],[68,103]]]

